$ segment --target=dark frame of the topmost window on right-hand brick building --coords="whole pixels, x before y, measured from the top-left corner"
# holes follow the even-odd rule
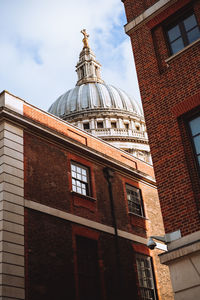
[[[165,40],[166,40],[166,45],[167,45],[167,48],[168,48],[168,52],[169,52],[169,55],[172,56],[172,55],[176,55],[177,53],[179,53],[180,51],[182,51],[184,48],[186,48],[187,46],[189,46],[190,44],[194,43],[195,41],[197,41],[199,38],[197,38],[196,40],[194,40],[193,42],[189,42],[188,40],[188,35],[187,33],[189,31],[191,31],[191,29],[189,31],[186,31],[185,29],[185,26],[183,24],[184,20],[187,19],[188,17],[194,15],[195,17],[195,20],[196,20],[196,26],[192,27],[192,29],[194,28],[199,28],[199,32],[200,32],[200,25],[198,23],[198,19],[196,17],[196,14],[194,12],[194,9],[193,7],[191,6],[187,6],[187,7],[184,7],[182,10],[180,10],[178,13],[175,13],[173,16],[170,16],[167,21],[164,22],[163,24],[163,31],[164,31],[164,36],[165,36]],[[181,48],[180,50],[178,50],[177,52],[173,52],[172,50],[172,47],[171,47],[171,44],[172,42],[170,42],[169,40],[169,35],[168,35],[168,31],[172,28],[174,28],[175,26],[179,27],[179,30],[180,30],[180,36],[182,38],[182,41],[183,41],[183,48]],[[176,40],[176,39],[175,39]],[[175,41],[173,40],[173,42]]]

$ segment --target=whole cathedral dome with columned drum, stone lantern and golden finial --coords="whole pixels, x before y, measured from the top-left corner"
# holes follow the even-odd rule
[[[88,34],[81,32],[78,81],[50,106],[49,113],[151,163],[142,109],[126,92],[101,79],[101,65],[88,45]]]

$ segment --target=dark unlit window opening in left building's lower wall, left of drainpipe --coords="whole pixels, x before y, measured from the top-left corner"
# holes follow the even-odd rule
[[[76,237],[78,285],[80,300],[100,300],[98,244],[95,240]]]

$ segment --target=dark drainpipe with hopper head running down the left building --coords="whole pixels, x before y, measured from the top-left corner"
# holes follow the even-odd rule
[[[109,198],[110,198],[110,208],[111,208],[111,215],[112,215],[112,221],[113,221],[113,227],[114,227],[114,236],[115,236],[115,250],[116,250],[116,266],[118,269],[118,287],[119,287],[119,293],[120,297],[119,299],[122,299],[122,274],[121,274],[121,263],[120,263],[120,251],[119,251],[119,236],[117,232],[117,220],[115,215],[115,207],[114,207],[114,201],[113,201],[113,192],[112,192],[112,182],[114,179],[114,170],[105,167],[103,169],[104,177],[107,180],[108,183],[108,191],[109,191]]]

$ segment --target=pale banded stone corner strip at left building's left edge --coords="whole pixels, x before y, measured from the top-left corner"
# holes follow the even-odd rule
[[[25,299],[23,130],[0,124],[0,299]]]

